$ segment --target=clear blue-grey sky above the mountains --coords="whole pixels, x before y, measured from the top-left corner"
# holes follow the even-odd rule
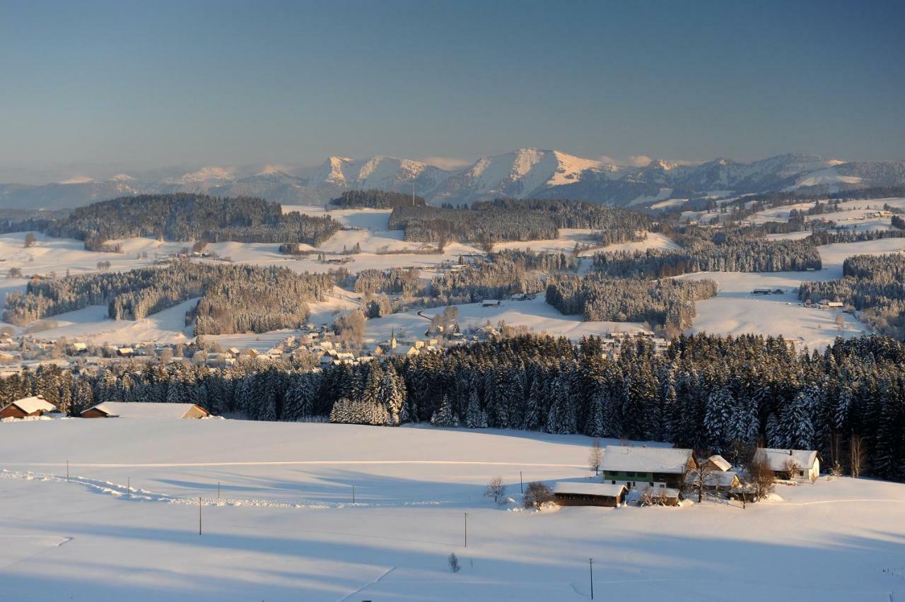
[[[0,0],[0,181],[167,165],[905,159],[905,3]]]

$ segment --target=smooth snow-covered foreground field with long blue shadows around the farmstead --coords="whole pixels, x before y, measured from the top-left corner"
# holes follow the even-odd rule
[[[513,498],[519,472],[586,481],[588,444],[233,420],[3,423],[0,598],[586,600],[588,558],[596,599],[905,593],[902,484],[821,478],[747,510],[534,513],[482,495],[494,475]]]

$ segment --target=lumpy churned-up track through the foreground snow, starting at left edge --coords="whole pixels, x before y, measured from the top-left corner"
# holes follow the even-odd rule
[[[70,465],[72,466],[72,465]],[[126,465],[129,466],[129,465]],[[141,466],[141,465],[135,465]],[[399,507],[399,506],[439,506],[443,503],[450,503],[444,500],[416,500],[401,503],[296,503],[276,500],[262,499],[240,499],[240,498],[216,498],[204,496],[176,496],[167,494],[156,494],[147,489],[138,489],[132,487],[131,490],[124,484],[112,483],[110,481],[99,481],[84,476],[48,475],[45,473],[33,473],[31,471],[7,470],[0,471],[0,478],[17,479],[21,481],[41,481],[43,483],[70,483],[81,484],[90,491],[97,494],[113,495],[124,500],[133,500],[138,502],[164,502],[186,506],[253,506],[263,508],[303,508],[310,510],[323,510],[330,508],[377,508],[377,507]]]

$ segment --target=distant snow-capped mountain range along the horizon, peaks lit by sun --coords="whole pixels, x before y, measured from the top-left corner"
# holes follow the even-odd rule
[[[118,174],[103,181],[80,176],[64,183],[0,184],[0,208],[62,209],[124,195],[179,192],[248,195],[283,204],[311,204],[323,203],[345,190],[376,188],[409,193],[413,187],[415,193],[433,204],[508,196],[643,205],[713,191],[835,192],[891,185],[905,185],[905,162],[778,155],[753,163],[719,158],[700,165],[676,165],[654,160],[637,167],[612,165],[555,150],[519,148],[503,155],[481,157],[459,170],[383,155],[367,159],[331,156],[306,177],[273,166],[252,174],[235,166],[206,166],[158,178]]]

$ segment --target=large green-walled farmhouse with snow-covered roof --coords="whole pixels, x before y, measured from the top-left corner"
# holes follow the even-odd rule
[[[697,466],[691,449],[606,446],[600,468],[605,483],[678,489]]]

